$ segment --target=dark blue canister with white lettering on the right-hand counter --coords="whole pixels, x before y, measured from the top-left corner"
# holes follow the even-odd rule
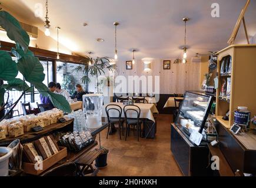
[[[250,123],[251,112],[246,107],[238,107],[235,110],[234,122],[238,125],[248,126]]]

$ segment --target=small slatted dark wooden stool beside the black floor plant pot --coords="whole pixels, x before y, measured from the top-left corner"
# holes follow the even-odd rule
[[[91,176],[96,176],[98,173],[98,168],[94,169],[92,163],[95,159],[101,154],[99,150],[91,150],[87,153],[84,153],[79,159],[75,161],[77,164],[77,173],[78,176],[85,176],[87,174],[91,174]]]

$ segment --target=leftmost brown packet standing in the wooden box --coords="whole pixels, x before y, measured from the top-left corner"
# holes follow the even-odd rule
[[[24,155],[26,156],[26,159],[28,159],[28,162],[35,164],[36,162],[41,162],[41,157],[39,153],[36,151],[35,146],[33,143],[26,143],[23,146]]]

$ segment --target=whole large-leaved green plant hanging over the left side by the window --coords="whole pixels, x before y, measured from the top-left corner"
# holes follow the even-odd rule
[[[0,80],[7,82],[7,84],[0,84],[0,112],[5,110],[6,105],[8,105],[8,100],[7,102],[4,101],[5,94],[9,96],[10,90],[22,92],[19,99],[10,106],[11,109],[0,117],[0,121],[12,112],[22,96],[32,92],[32,87],[29,87],[26,82],[31,83],[31,85],[38,89],[41,95],[48,96],[56,108],[70,113],[71,108],[65,97],[51,92],[44,85],[44,67],[28,48],[30,42],[28,33],[22,29],[14,16],[6,11],[2,11],[2,9],[0,9],[0,26],[5,29],[9,39],[16,43],[15,48],[11,49],[11,53],[17,58],[17,62],[15,62],[12,60],[9,52],[0,51]],[[24,80],[16,78],[18,73],[24,76]]]

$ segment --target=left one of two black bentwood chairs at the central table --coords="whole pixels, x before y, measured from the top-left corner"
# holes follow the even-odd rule
[[[108,105],[105,108],[106,110],[106,114],[108,117],[108,133],[107,133],[107,139],[108,139],[108,134],[109,134],[109,130],[110,130],[110,126],[111,126],[111,132],[112,129],[114,128],[115,124],[118,124],[119,126],[119,137],[120,140],[121,138],[121,128],[122,128],[122,136],[124,136],[124,118],[122,118],[122,108],[119,105]],[[117,116],[113,117],[109,115],[110,113],[116,113]]]

